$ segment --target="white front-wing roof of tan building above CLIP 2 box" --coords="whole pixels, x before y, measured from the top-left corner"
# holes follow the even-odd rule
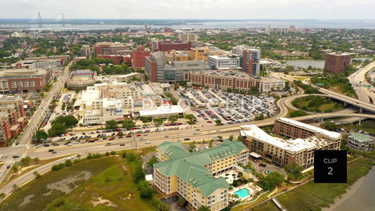
[[[303,139],[284,140],[274,136],[270,136],[255,124],[243,125],[240,127],[241,136],[250,136],[254,139],[258,139],[260,141],[272,144],[273,146],[277,146],[278,148],[282,148],[286,151],[299,152],[310,150],[316,147],[314,143],[310,143],[309,141],[305,141]]]

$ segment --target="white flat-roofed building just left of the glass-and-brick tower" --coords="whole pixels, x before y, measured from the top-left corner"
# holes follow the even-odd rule
[[[208,65],[211,66],[212,70],[239,68],[239,57],[228,55],[208,56]]]

